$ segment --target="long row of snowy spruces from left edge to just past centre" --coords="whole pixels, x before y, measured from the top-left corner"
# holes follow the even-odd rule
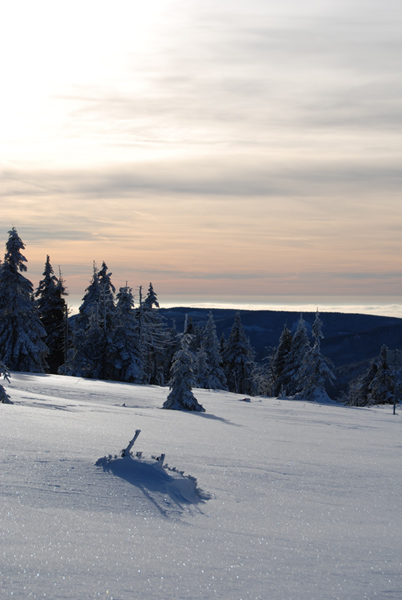
[[[79,314],[69,319],[61,274],[54,274],[48,256],[43,279],[34,290],[24,276],[24,248],[13,228],[0,265],[0,360],[4,373],[10,369],[165,385],[188,372],[191,386],[228,389],[230,379],[229,389],[249,391],[252,350],[240,317],[223,346],[212,314],[204,328],[195,328],[188,319],[185,331],[179,334],[174,326],[167,327],[159,314],[152,283],[144,298],[140,288],[134,306],[132,288],[126,284],[116,293],[111,273],[102,263],[100,270],[94,264]],[[224,368],[222,347],[228,369]]]

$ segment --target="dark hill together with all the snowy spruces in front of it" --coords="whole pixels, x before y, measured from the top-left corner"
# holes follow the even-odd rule
[[[164,408],[202,411],[192,388],[359,405],[395,400],[387,348],[402,347],[390,317],[233,309],[161,309],[149,284],[118,290],[93,263],[79,313],[69,318],[59,270],[47,256],[34,289],[25,246],[9,232],[0,267],[0,368],[169,385]],[[359,381],[354,381],[356,378]],[[399,394],[399,387],[397,391]],[[353,388],[353,392],[350,390]]]

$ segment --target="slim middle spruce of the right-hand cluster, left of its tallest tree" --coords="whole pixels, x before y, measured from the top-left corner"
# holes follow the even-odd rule
[[[305,385],[304,361],[310,350],[310,340],[307,334],[306,322],[300,315],[296,331],[292,338],[292,346],[286,358],[287,396],[301,392]]]

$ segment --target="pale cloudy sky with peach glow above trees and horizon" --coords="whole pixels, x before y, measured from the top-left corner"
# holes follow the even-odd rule
[[[93,261],[160,299],[401,295],[400,0],[14,0],[0,24],[0,242],[35,284],[49,255],[77,297]]]

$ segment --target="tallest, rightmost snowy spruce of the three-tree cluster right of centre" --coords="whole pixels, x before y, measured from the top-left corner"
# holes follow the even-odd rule
[[[315,321],[312,326],[314,344],[305,354],[301,368],[300,381],[303,382],[302,390],[295,395],[296,399],[302,400],[330,400],[325,389],[326,382],[333,383],[335,375],[332,361],[321,354],[322,321],[317,310]]]

